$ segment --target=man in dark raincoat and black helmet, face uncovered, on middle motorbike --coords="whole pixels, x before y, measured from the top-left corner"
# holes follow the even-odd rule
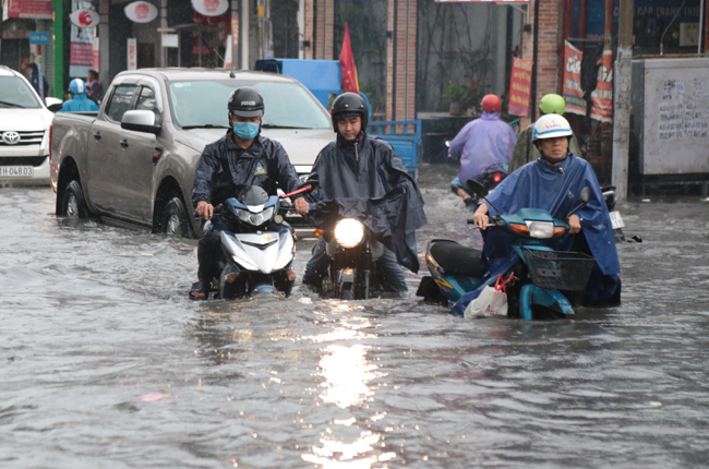
[[[407,291],[400,265],[418,272],[414,231],[425,225],[423,197],[392,145],[366,133],[369,110],[364,99],[344,93],[332,108],[337,142],[323,148],[309,180],[319,189],[311,195],[315,224],[337,206],[341,217],[354,217],[385,245],[378,266],[385,288]],[[329,257],[320,238],[305,267],[303,284],[320,289]]]

